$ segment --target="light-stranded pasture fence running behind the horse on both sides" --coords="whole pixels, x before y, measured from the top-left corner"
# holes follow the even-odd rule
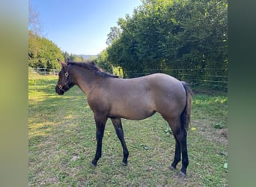
[[[29,76],[31,79],[37,76],[52,75],[58,76],[60,70],[46,69],[46,68],[29,68]],[[166,69],[166,70],[143,70],[143,72],[127,72],[129,78],[139,76],[147,76],[153,73],[166,73],[174,76],[184,82],[189,83],[192,87],[201,89],[211,89],[218,91],[228,91],[228,76],[219,76],[214,73],[219,72],[220,75],[225,73],[221,69]]]

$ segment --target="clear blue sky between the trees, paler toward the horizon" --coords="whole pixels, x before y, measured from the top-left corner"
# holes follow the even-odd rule
[[[106,49],[110,27],[119,18],[132,16],[141,0],[31,0],[39,13],[43,37],[61,51],[76,55],[98,55]]]

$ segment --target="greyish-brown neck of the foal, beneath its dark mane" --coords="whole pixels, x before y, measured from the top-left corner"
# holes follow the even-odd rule
[[[74,73],[74,78],[76,85],[87,95],[91,91],[91,88],[100,81],[99,77],[97,77],[94,72],[85,70],[84,68],[77,68],[76,73]]]

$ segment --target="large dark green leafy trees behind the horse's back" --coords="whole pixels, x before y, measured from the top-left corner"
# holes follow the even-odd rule
[[[142,2],[132,16],[118,20],[122,33],[107,49],[111,64],[126,76],[174,68],[209,68],[227,76],[227,0]]]

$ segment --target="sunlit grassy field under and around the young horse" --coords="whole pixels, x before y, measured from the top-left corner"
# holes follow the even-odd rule
[[[189,167],[185,178],[168,166],[174,138],[159,114],[123,120],[129,149],[121,165],[121,143],[110,120],[103,157],[96,168],[93,113],[78,87],[58,96],[57,77],[28,80],[29,186],[228,186],[228,97],[196,93],[188,132]]]

